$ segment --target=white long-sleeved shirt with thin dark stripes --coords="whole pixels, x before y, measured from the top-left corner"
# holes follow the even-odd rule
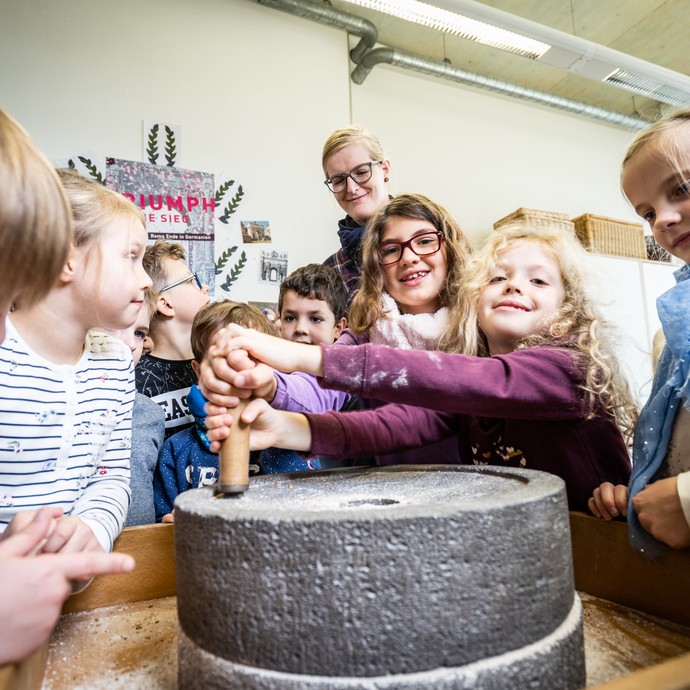
[[[0,347],[0,531],[15,513],[61,507],[109,551],[130,501],[134,367],[124,343],[87,335],[74,365],[33,352],[7,319]]]

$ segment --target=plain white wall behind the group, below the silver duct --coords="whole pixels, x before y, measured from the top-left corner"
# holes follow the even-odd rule
[[[321,147],[349,122],[379,135],[393,193],[439,201],[475,243],[520,206],[633,219],[618,187],[631,132],[388,66],[358,86],[349,48],[341,30],[254,0],[0,0],[0,105],[55,161],[143,160],[144,120],[180,125],[177,165],[247,192],[216,223],[216,255],[241,244],[240,220],[269,220],[289,270],[338,246]],[[275,300],[248,253],[231,296]],[[639,311],[608,307],[624,331],[654,330],[670,279],[647,273]]]

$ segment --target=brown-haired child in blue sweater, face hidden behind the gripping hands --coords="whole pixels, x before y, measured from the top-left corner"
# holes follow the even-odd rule
[[[319,267],[323,268],[323,267]],[[325,269],[324,270],[330,270]],[[275,332],[270,321],[250,304],[222,300],[203,307],[192,326],[192,366],[197,371],[216,333],[230,323],[254,328],[262,333]],[[332,342],[332,341],[331,341]],[[195,417],[195,427],[185,429],[168,438],[163,446],[160,461],[154,475],[154,501],[156,519],[173,522],[173,504],[178,494],[189,489],[218,483],[218,456],[209,449],[206,437],[204,405],[206,399],[193,385],[188,395],[189,408]],[[319,469],[317,463],[310,467],[296,453],[282,449],[268,449],[253,453],[250,474],[270,474],[305,469]]]

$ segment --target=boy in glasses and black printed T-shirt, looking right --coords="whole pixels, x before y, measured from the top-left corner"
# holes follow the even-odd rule
[[[153,398],[165,412],[165,437],[194,426],[187,405],[192,368],[192,321],[208,303],[208,286],[186,264],[184,248],[167,240],[146,247],[144,268],[158,295],[151,317],[153,352],[136,368],[137,391]]]

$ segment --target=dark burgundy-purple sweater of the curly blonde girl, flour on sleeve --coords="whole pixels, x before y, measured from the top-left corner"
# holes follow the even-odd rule
[[[603,411],[584,418],[583,371],[567,349],[468,357],[378,345],[322,348],[322,385],[398,404],[307,415],[314,455],[390,453],[458,434],[464,464],[551,472],[565,481],[570,509],[582,511],[602,482],[628,481],[623,436]]]

